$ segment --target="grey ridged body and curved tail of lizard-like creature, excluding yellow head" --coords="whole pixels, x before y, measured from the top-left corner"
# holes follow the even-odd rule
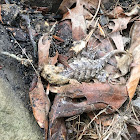
[[[100,59],[91,60],[82,57],[79,60],[74,60],[69,64],[70,68],[65,69],[61,75],[69,79],[76,79],[77,81],[89,81],[93,79],[105,67],[110,58],[118,53],[126,53],[125,51],[113,50],[107,53]]]

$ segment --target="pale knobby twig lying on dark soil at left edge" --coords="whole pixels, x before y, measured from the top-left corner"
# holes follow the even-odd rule
[[[17,61],[20,61],[25,66],[28,66],[32,62],[32,60],[20,58],[20,57],[16,56],[15,54],[10,54],[9,52],[1,52],[1,54],[12,57],[12,58],[16,59]]]

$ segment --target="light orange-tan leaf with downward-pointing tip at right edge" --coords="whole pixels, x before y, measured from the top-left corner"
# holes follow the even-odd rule
[[[130,78],[126,85],[130,100],[133,98],[140,80],[140,45],[133,50],[132,55],[134,58],[133,62],[136,66],[132,68]]]

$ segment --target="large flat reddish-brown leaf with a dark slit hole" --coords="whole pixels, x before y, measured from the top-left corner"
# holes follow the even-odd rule
[[[50,91],[59,93],[52,107],[52,120],[100,110],[108,105],[111,107],[108,111],[112,112],[120,108],[127,99],[125,86],[107,83],[74,83],[50,87]]]

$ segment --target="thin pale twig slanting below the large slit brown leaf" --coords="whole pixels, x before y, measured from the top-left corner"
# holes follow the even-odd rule
[[[106,112],[106,108],[103,109],[103,110],[101,110],[101,111],[89,122],[89,124],[88,124],[86,127],[84,127],[83,132],[82,132],[81,135],[79,136],[78,140],[81,140],[82,136],[84,135],[84,133],[85,133],[85,131],[87,130],[87,128],[91,125],[91,123],[92,123],[99,115],[101,115],[101,114],[104,113],[104,112]]]

